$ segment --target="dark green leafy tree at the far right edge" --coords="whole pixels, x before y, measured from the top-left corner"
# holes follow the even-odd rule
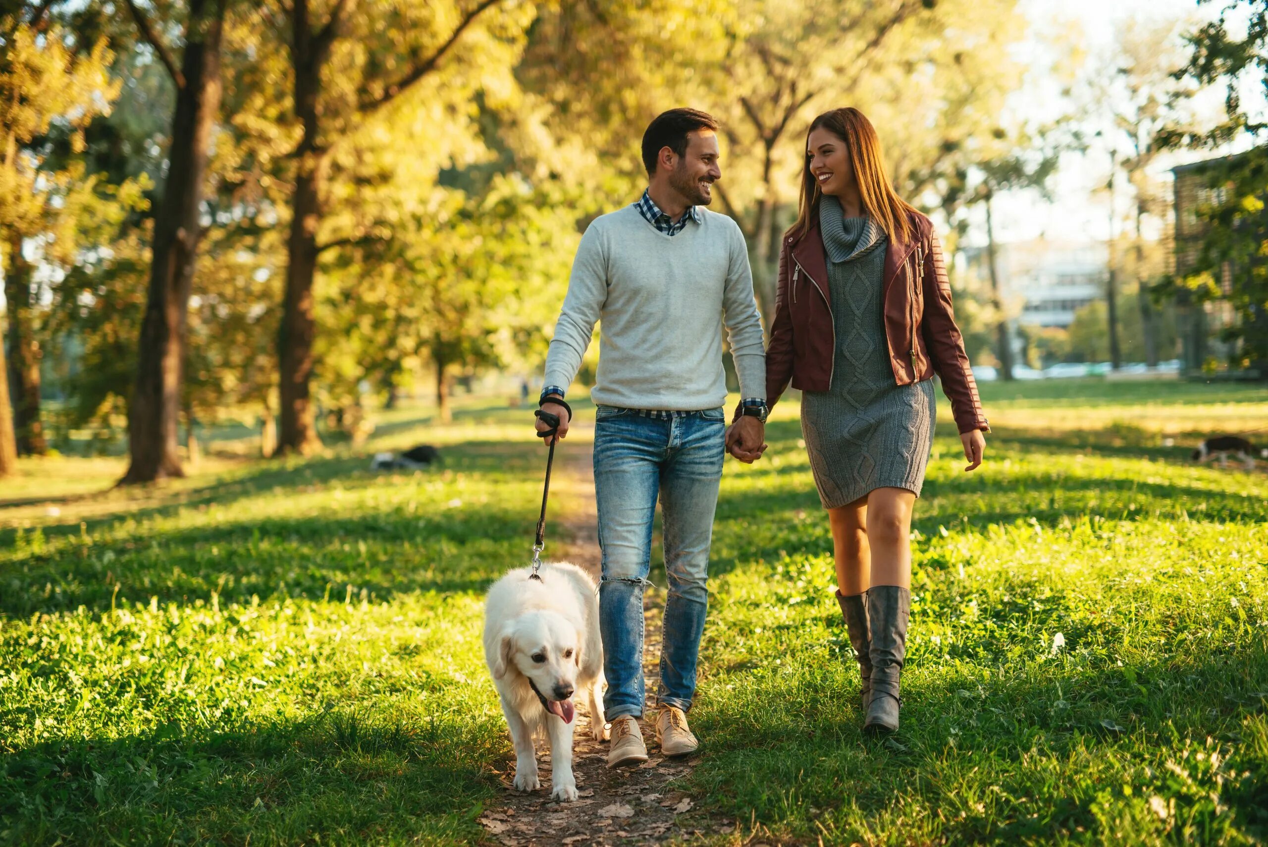
[[[1201,0],[1211,3],[1211,0]],[[1239,25],[1230,27],[1230,19]],[[1241,34],[1244,33],[1244,36]],[[1188,34],[1192,48],[1184,72],[1197,85],[1225,85],[1225,120],[1200,131],[1177,126],[1159,133],[1159,143],[1210,148],[1240,138],[1257,146],[1212,164],[1207,185],[1212,200],[1197,209],[1206,235],[1196,245],[1194,261],[1178,280],[1184,301],[1224,299],[1236,321],[1225,330],[1234,346],[1234,364],[1254,366],[1268,379],[1268,122],[1243,104],[1241,93],[1268,86],[1268,0],[1229,3],[1219,18]],[[1227,285],[1216,280],[1227,274]]]

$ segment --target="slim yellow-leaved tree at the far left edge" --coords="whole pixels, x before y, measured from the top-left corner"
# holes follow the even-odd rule
[[[0,240],[8,303],[8,383],[15,412],[16,449],[47,450],[41,413],[44,336],[38,311],[43,287],[28,250],[67,256],[76,245],[76,218],[91,205],[95,178],[74,153],[84,128],[118,93],[107,76],[112,55],[104,39],[76,44],[46,19],[6,16],[0,46]],[[65,142],[68,151],[60,150]],[[71,155],[67,155],[71,153]]]

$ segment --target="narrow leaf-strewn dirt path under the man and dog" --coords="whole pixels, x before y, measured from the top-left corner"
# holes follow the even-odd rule
[[[598,541],[595,534],[595,482],[590,445],[593,431],[574,427],[573,437],[557,453],[555,479],[550,483],[550,511],[547,524],[548,558],[563,558],[598,578]],[[560,462],[562,459],[562,462]],[[554,540],[552,540],[554,539]],[[645,716],[653,716],[657,661],[661,656],[661,615],[664,591],[647,593],[647,644],[643,673],[647,678]],[[694,836],[732,833],[734,822],[714,820],[694,814],[696,799],[670,784],[690,772],[694,760],[659,756],[656,730],[643,721],[643,737],[650,758],[634,770],[607,768],[607,743],[590,734],[590,715],[577,708],[573,734],[573,773],[581,799],[576,803],[550,800],[550,754],[538,742],[538,767],[541,789],[521,794],[511,787],[515,760],[502,771],[503,796],[481,815],[481,824],[492,839],[508,847],[529,844],[656,844],[687,841]],[[729,825],[728,825],[729,823]]]

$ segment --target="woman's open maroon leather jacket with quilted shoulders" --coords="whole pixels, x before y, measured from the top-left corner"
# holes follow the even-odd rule
[[[910,221],[914,240],[885,246],[885,337],[894,383],[908,385],[937,373],[960,432],[990,431],[955,323],[933,223],[918,213]],[[828,262],[815,221],[804,236],[785,237],[781,245],[775,320],[766,349],[767,406],[775,406],[790,379],[800,391],[828,391],[837,345],[831,303]]]

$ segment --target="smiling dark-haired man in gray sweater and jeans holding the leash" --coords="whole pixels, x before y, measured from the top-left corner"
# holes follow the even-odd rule
[[[595,424],[595,500],[602,574],[600,630],[612,724],[609,767],[647,761],[643,716],[643,591],[657,498],[664,517],[668,600],[656,735],[667,756],[699,746],[686,713],[705,625],[709,544],[728,437],[756,459],[766,421],[762,327],[739,227],[713,200],[718,123],[672,109],[643,134],[648,188],[586,230],[547,356],[541,408],[572,416],[572,384],[601,321]],[[725,322],[743,415],[727,431],[721,364]],[[538,421],[538,430],[548,429]]]

